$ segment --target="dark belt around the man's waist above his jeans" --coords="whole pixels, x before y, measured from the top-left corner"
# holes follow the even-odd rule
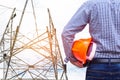
[[[120,63],[120,58],[95,58],[90,63]]]

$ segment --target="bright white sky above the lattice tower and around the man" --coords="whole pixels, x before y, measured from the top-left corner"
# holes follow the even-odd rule
[[[38,28],[43,29],[46,28],[48,25],[48,13],[47,13],[47,8],[50,9],[51,16],[53,19],[53,23],[55,25],[55,28],[57,30],[58,34],[58,39],[61,43],[61,37],[60,34],[62,32],[63,27],[67,24],[69,19],[72,17],[72,15],[76,12],[76,10],[80,7],[80,5],[86,1],[86,0],[33,0],[34,1],[34,6],[35,6],[35,11],[36,11],[36,16],[37,16],[37,23],[38,23]],[[26,34],[27,30],[35,30],[35,28],[32,27],[34,25],[33,21],[33,15],[32,15],[32,8],[30,4],[31,0],[29,0],[29,4],[27,5],[26,9],[26,14],[25,18],[23,21],[24,26],[26,27],[21,27],[21,31]],[[12,9],[9,8],[14,8],[16,7],[16,18],[15,18],[15,24],[18,25],[19,23],[19,15],[20,12],[22,11],[23,7],[25,4],[25,0],[0,0],[0,37],[3,34],[3,31],[6,27],[6,24],[8,22],[8,19],[11,15]],[[6,6],[6,7],[2,7]],[[28,32],[29,32],[28,31]],[[83,31],[80,37],[88,37],[88,33],[86,33],[86,30]],[[62,45],[60,45],[61,50]],[[69,67],[70,66],[70,67]],[[68,63],[68,76],[69,80],[84,80],[83,78],[85,77],[85,69],[78,69],[75,66],[71,65]]]

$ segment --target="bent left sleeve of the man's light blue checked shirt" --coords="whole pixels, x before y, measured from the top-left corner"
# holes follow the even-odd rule
[[[84,3],[63,29],[61,36],[66,55],[65,62],[68,62],[70,59],[72,61],[76,61],[76,58],[73,56],[71,51],[73,40],[75,34],[82,31],[89,22],[89,13],[89,5],[88,3]]]

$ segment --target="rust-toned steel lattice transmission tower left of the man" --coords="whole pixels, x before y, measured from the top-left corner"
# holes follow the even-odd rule
[[[1,80],[68,80],[49,9],[49,25],[45,31],[38,34],[36,23],[34,38],[19,32],[27,3],[28,0],[19,25],[14,29],[12,24],[16,13],[13,9],[0,40]]]

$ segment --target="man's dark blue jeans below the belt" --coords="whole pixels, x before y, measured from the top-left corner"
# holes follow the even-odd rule
[[[85,80],[120,80],[120,63],[90,63]]]

